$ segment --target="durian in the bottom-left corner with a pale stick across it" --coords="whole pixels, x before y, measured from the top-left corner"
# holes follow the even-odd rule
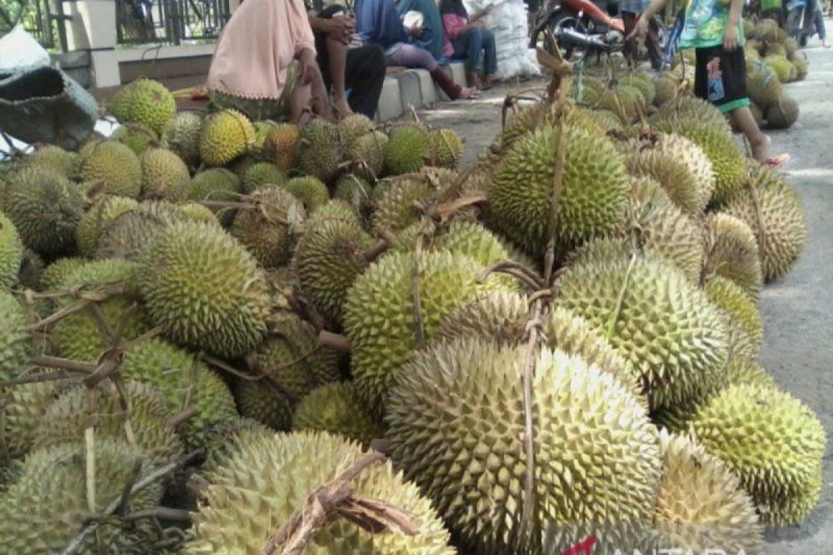
[[[62,553],[87,525],[90,513],[102,513],[122,498],[123,490],[151,472],[141,451],[127,442],[96,438],[89,506],[87,450],[82,442],[38,449],[22,463],[22,472],[0,493],[0,552],[16,555]],[[161,483],[151,483],[127,500],[126,513],[151,509],[162,500]],[[61,523],[56,526],[56,523]],[[153,543],[152,527],[109,518],[81,545],[78,553],[94,553],[96,542],[104,553],[134,553]]]

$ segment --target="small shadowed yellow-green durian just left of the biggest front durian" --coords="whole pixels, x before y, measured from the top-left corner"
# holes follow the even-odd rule
[[[352,382],[333,382],[313,389],[295,409],[292,429],[342,435],[364,448],[370,448],[372,440],[385,433]]]

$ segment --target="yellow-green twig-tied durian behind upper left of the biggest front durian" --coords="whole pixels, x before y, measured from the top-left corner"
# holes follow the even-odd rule
[[[344,327],[352,343],[357,388],[374,409],[382,409],[388,387],[419,346],[420,334],[430,340],[456,305],[489,290],[508,289],[496,275],[478,282],[481,270],[468,256],[436,250],[383,256],[357,278],[347,292]]]

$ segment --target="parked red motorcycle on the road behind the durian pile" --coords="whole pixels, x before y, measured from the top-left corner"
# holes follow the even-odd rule
[[[532,26],[530,47],[538,47],[541,41],[546,45],[546,36],[551,33],[567,62],[621,52],[625,47],[625,25],[621,17],[611,15],[618,12],[618,5],[602,2],[605,9],[592,0],[545,0]],[[654,16],[651,26],[659,30],[660,47],[664,49],[668,37],[665,23]]]

